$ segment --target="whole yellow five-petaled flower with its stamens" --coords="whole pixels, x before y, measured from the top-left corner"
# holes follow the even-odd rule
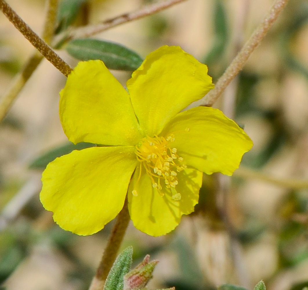
[[[40,199],[61,228],[98,232],[127,195],[135,227],[164,235],[194,210],[202,172],[237,169],[252,147],[245,132],[217,109],[180,112],[214,87],[207,72],[180,47],[162,46],[126,91],[103,62],[79,62],[60,93],[63,130],[73,143],[107,146],[72,151],[43,172]]]

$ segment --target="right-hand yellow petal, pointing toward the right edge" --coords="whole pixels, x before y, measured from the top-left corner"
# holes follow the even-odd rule
[[[172,147],[184,163],[212,174],[232,175],[253,145],[246,133],[221,111],[197,107],[176,115],[161,135],[174,134]]]

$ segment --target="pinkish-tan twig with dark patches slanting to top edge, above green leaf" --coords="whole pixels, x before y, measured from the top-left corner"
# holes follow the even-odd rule
[[[172,5],[183,2],[185,0],[166,0],[161,2],[156,2],[148,6],[144,6],[139,10],[135,10],[129,13],[122,14],[115,18],[107,19],[102,23],[98,23],[95,25],[88,25],[77,28],[73,30],[70,34],[68,34],[66,40],[70,40],[73,38],[86,38],[91,35],[97,34],[104,30],[107,30],[111,27],[130,22],[132,20],[136,20],[151,14],[155,14],[161,10],[164,10]]]

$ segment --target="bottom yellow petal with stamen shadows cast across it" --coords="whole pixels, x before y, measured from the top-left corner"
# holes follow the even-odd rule
[[[170,189],[162,184],[164,196],[160,196],[146,173],[139,181],[139,166],[128,188],[128,209],[137,229],[151,236],[161,236],[171,232],[180,223],[182,215],[188,215],[198,203],[202,173],[186,169],[178,173],[176,191],[180,200],[173,200]],[[137,195],[132,194],[136,190]],[[135,193],[135,194],[136,194]]]

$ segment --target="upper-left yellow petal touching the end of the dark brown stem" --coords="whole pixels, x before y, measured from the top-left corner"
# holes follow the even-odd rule
[[[134,145],[140,140],[129,95],[102,61],[79,62],[60,96],[60,119],[71,142]]]

